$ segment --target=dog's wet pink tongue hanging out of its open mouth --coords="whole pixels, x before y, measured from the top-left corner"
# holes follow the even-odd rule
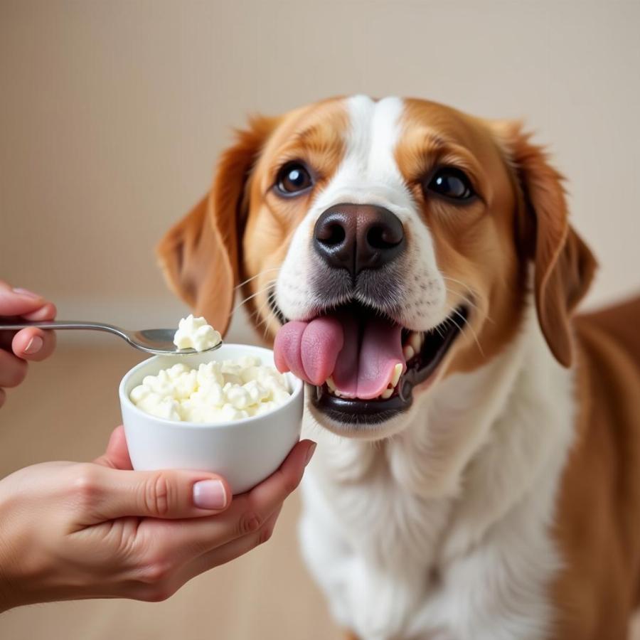
[[[274,360],[279,371],[291,371],[312,385],[331,375],[346,398],[377,398],[404,366],[402,328],[381,318],[358,321],[348,314],[310,322],[288,322],[278,331]]]

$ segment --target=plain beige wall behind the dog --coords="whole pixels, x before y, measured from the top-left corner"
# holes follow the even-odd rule
[[[174,321],[154,246],[245,114],[364,92],[523,117],[602,268],[640,285],[640,2],[0,2],[0,277]],[[236,323],[236,326],[238,324]]]

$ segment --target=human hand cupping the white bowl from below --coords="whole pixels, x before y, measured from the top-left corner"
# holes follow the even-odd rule
[[[168,598],[270,538],[314,448],[299,442],[233,501],[215,474],[132,471],[122,427],[95,462],[16,471],[0,481],[0,612],[62,599]]]

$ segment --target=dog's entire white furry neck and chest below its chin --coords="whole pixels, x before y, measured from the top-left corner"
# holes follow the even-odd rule
[[[548,636],[573,405],[570,373],[540,364],[489,390],[482,374],[444,381],[384,446],[309,432],[302,548],[338,624],[362,640]]]

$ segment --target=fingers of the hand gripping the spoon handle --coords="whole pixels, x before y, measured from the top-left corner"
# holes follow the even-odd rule
[[[9,284],[0,280],[0,316],[23,320],[53,320],[55,305],[26,289],[11,289]],[[0,331],[0,407],[6,397],[4,388],[17,387],[24,380],[26,361],[44,360],[54,348],[53,331],[33,328],[17,332]]]

